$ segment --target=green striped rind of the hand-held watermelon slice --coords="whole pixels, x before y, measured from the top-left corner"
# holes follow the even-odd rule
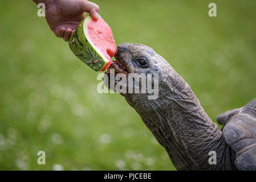
[[[76,28],[74,34],[71,35],[69,46],[71,51],[89,67],[95,71],[102,71],[105,65],[111,61],[97,49],[94,43],[88,38],[87,25],[92,20],[91,16],[87,16]],[[94,60],[94,64],[92,61]],[[97,63],[95,63],[97,61]]]

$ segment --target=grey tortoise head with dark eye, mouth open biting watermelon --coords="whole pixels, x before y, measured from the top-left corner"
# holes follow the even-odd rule
[[[158,97],[159,68],[161,56],[150,47],[141,44],[123,43],[117,47],[115,58],[117,61],[107,70],[108,88],[111,88],[111,68],[115,69],[115,92],[120,88],[121,95],[144,99],[156,99]],[[123,73],[119,80],[120,73]],[[116,79],[117,78],[117,79]],[[113,76],[112,76],[113,79]],[[112,81],[113,82],[113,81]],[[117,86],[117,84],[119,84]],[[112,85],[113,86],[113,85]]]

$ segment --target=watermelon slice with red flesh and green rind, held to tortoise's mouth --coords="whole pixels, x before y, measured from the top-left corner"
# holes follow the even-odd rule
[[[80,60],[95,71],[105,71],[116,53],[111,28],[101,16],[98,20],[87,16],[72,34],[69,46]]]

